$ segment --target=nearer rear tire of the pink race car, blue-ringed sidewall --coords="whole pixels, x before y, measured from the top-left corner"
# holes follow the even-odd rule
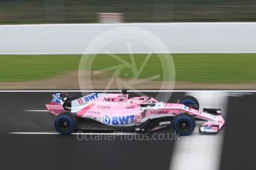
[[[69,135],[76,129],[76,117],[71,113],[60,114],[54,120],[54,128],[62,135]]]

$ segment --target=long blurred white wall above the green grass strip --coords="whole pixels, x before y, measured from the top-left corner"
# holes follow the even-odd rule
[[[1,25],[0,53],[82,53],[97,35],[123,26],[148,30],[170,52],[256,52],[255,22]],[[148,52],[136,44],[131,47],[133,52]],[[128,52],[118,42],[109,49]]]

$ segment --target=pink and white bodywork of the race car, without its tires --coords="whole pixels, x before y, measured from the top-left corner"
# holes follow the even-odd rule
[[[79,98],[72,102],[71,112],[79,118],[91,118],[109,126],[140,125],[148,119],[176,116],[185,112],[194,118],[206,120],[203,126],[211,127],[213,132],[218,132],[225,123],[221,115],[211,115],[180,103],[163,103],[148,97],[128,99],[128,95],[100,94],[99,98],[88,103],[81,100]],[[50,103],[46,106],[53,115],[65,111],[61,104]]]

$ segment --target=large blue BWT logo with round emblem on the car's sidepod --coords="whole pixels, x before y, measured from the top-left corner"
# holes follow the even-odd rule
[[[109,124],[112,123],[113,125],[118,125],[118,124],[128,124],[134,123],[134,115],[128,115],[128,116],[113,116],[112,118],[108,117],[107,115],[103,116],[103,123]],[[129,121],[130,120],[130,121]]]

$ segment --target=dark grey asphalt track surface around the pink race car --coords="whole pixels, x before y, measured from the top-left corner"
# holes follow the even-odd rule
[[[70,92],[70,95],[77,94]],[[176,102],[184,94],[174,92],[168,102]],[[174,143],[179,140],[137,140],[135,137],[130,140],[128,135],[116,135],[115,140],[103,137],[96,141],[93,137],[97,135],[78,140],[76,135],[10,134],[55,132],[53,118],[47,112],[25,111],[45,110],[44,103],[51,100],[51,95],[53,92],[0,92],[1,170],[169,169]],[[130,97],[133,95],[130,93]],[[147,95],[154,96],[155,93],[148,92]],[[255,169],[256,93],[229,95],[220,169]],[[161,132],[167,136],[173,130]]]

